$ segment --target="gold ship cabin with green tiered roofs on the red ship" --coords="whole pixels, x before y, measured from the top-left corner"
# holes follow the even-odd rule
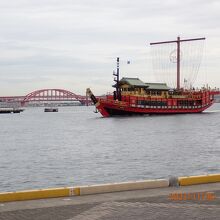
[[[144,83],[139,78],[125,77],[119,81],[119,88],[122,96],[150,96],[151,98],[166,98],[170,90],[166,83]]]

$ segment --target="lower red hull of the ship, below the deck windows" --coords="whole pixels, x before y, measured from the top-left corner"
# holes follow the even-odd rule
[[[96,108],[104,117],[114,115],[132,115],[132,114],[187,114],[187,113],[201,113],[213,104],[210,101],[208,104],[201,106],[140,106],[129,105],[126,102],[119,102],[115,100],[102,100],[96,103]]]

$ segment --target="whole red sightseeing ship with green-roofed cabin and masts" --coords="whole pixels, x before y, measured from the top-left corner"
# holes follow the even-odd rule
[[[204,40],[205,38],[186,39],[151,43],[176,43],[176,78],[177,85],[171,89],[166,83],[144,83],[138,78],[122,78],[119,80],[119,58],[117,58],[117,72],[115,91],[112,95],[98,98],[87,89],[96,109],[104,116],[140,115],[140,114],[178,114],[200,113],[209,108],[214,102],[215,91],[210,88],[184,89],[180,87],[180,43],[184,41]]]

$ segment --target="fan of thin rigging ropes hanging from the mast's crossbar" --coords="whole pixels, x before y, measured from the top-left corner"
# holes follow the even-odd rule
[[[204,50],[204,40],[180,43],[180,86],[190,89],[196,82]],[[177,80],[177,43],[151,46],[156,80],[175,88]]]

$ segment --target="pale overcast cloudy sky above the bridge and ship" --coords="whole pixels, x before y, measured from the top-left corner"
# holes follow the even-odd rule
[[[220,87],[219,11],[218,0],[0,0],[0,96],[111,92],[117,56],[121,77],[153,82],[149,43],[177,36],[206,37],[196,85]]]

